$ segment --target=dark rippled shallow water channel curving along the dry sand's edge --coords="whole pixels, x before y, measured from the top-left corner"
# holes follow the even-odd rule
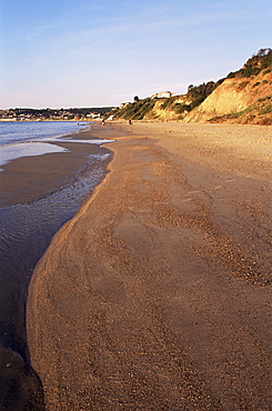
[[[59,190],[33,202],[0,209],[0,408],[43,410],[42,384],[30,364],[26,331],[28,287],[56,232],[107,174],[110,150],[90,156],[85,169]],[[42,218],[41,218],[42,215]]]

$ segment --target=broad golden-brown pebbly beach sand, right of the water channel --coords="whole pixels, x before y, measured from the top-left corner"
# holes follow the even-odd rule
[[[93,133],[117,140],[109,173],[29,289],[46,409],[271,409],[272,129]]]

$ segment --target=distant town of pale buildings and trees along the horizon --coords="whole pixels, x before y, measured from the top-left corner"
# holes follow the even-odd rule
[[[0,121],[88,121],[99,119],[113,107],[71,109],[0,110]]]

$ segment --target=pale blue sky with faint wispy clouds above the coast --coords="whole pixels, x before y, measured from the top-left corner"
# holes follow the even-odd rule
[[[119,106],[272,47],[272,0],[0,0],[0,108]]]

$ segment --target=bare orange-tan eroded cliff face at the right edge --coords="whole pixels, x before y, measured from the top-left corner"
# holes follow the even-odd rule
[[[225,79],[185,122],[241,122],[272,124],[272,71],[251,78]]]

